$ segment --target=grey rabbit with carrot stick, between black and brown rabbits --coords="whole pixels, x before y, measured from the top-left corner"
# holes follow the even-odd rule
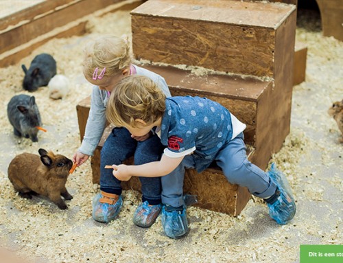
[[[34,96],[14,95],[7,106],[7,115],[14,135],[38,141],[38,128],[42,126],[40,113]]]

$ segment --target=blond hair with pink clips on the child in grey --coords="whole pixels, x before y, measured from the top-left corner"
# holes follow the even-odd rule
[[[126,36],[100,36],[84,48],[83,73],[91,78],[96,68],[106,67],[104,77],[114,76],[132,62],[130,43]]]

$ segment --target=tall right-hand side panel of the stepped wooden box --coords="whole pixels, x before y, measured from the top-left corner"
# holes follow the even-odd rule
[[[254,163],[265,168],[272,153],[278,152],[289,134],[295,42],[296,12],[276,30],[274,87],[263,93],[258,104]]]

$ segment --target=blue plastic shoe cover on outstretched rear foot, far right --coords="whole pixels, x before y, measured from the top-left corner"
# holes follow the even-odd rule
[[[289,187],[285,174],[276,169],[275,163],[272,163],[268,174],[276,183],[276,194],[279,195],[276,201],[268,203],[269,215],[279,225],[285,225],[296,214],[296,204],[292,190]]]

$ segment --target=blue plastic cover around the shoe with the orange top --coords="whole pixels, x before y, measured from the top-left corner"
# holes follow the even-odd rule
[[[116,203],[110,205],[108,203],[100,203],[99,199],[103,198],[102,194],[97,194],[93,199],[93,219],[98,222],[110,222],[115,219],[121,206],[123,205],[123,198],[119,196]]]

